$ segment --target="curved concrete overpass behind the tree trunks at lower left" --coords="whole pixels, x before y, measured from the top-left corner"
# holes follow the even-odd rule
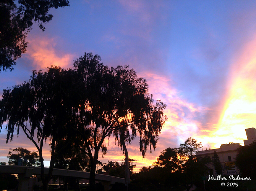
[[[49,168],[44,168],[44,173],[47,175]],[[41,175],[41,167],[29,167],[29,166],[7,166],[0,165],[0,173],[18,174],[19,177],[19,188],[18,191],[28,191],[29,179],[32,175]],[[64,169],[53,169],[53,176],[59,177],[76,177],[81,179],[89,179],[89,172],[82,172],[76,170],[64,170]],[[105,191],[112,188],[112,185],[117,183],[125,184],[124,178],[112,177],[109,175],[97,174],[95,175],[97,181],[102,182]]]

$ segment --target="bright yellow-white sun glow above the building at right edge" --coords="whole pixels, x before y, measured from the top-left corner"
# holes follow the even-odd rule
[[[245,46],[231,72],[230,89],[214,133],[218,137],[215,147],[243,143],[245,129],[256,127],[256,39]]]

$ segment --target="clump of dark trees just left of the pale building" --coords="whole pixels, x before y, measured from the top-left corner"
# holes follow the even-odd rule
[[[189,137],[178,148],[165,149],[152,166],[143,167],[139,173],[134,174],[133,182],[162,185],[165,188],[185,186],[187,190],[192,185],[201,184],[201,176],[206,176],[209,172],[206,164],[210,158],[196,159],[196,151],[199,148],[201,143]]]

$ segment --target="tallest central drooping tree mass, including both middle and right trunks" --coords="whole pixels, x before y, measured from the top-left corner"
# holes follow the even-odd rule
[[[101,148],[103,154],[107,152],[104,139],[114,131],[125,150],[127,161],[129,158],[124,142],[130,141],[138,132],[140,150],[144,156],[148,145],[150,149],[156,147],[165,120],[162,112],[165,105],[162,102],[153,104],[152,95],[147,92],[146,80],[137,78],[134,70],[129,70],[128,66],[108,68],[100,63],[98,55],[91,53],[77,59],[74,66],[78,73],[78,84],[82,84],[79,89],[78,132],[90,157],[90,186],[95,189],[99,150]],[[129,127],[132,135],[129,134]]]

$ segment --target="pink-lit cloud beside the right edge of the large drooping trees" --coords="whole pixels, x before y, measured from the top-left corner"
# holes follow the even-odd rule
[[[157,144],[159,153],[168,147],[178,147],[188,137],[201,137],[200,117],[209,112],[209,108],[188,102],[182,97],[182,92],[173,87],[172,80],[166,76],[150,72],[141,72],[138,76],[147,79],[149,92],[153,94],[154,100],[160,99],[167,104],[164,114],[167,115],[168,121],[165,122],[159,136]],[[155,153],[154,157],[156,158],[159,153]]]

